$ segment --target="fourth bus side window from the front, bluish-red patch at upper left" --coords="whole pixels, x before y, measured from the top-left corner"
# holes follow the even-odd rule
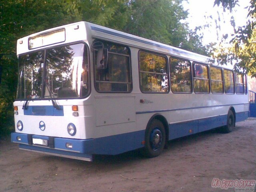
[[[194,92],[195,93],[209,93],[209,76],[208,66],[201,64],[194,64]]]

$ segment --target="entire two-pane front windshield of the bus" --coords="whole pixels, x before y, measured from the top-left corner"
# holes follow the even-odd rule
[[[89,92],[87,54],[84,44],[74,44],[19,56],[17,98],[85,97]]]

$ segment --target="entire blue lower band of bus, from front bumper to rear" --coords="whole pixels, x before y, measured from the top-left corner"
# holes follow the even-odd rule
[[[248,115],[248,111],[236,113],[236,122],[245,120],[246,118],[248,118]],[[212,128],[226,125],[226,123],[227,115],[222,115],[211,118],[192,120],[189,122],[169,124],[169,140],[210,130]],[[192,132],[190,130],[192,130]],[[22,140],[18,141],[17,136],[20,136]],[[37,138],[35,136],[33,137]],[[142,144],[142,141],[144,141],[144,137],[145,130],[85,140],[54,138],[54,147],[58,149],[51,149],[28,145],[28,134],[12,133],[12,142],[20,143],[21,148],[26,148],[30,150],[38,150],[41,152],[45,151],[81,157],[88,154],[116,155],[130,150],[142,148],[144,146]],[[73,145],[73,148],[66,148],[66,143],[71,143]],[[70,152],[68,152],[67,150],[70,150]]]

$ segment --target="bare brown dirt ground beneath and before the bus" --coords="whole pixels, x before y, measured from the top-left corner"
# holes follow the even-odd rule
[[[156,158],[132,151],[85,162],[26,152],[1,139],[0,192],[234,192],[212,188],[212,179],[256,179],[256,118],[229,134],[211,130],[168,146]]]

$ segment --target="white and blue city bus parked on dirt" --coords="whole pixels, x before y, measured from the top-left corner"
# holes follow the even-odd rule
[[[248,118],[246,75],[193,52],[88,22],[17,41],[12,142],[92,161]]]

